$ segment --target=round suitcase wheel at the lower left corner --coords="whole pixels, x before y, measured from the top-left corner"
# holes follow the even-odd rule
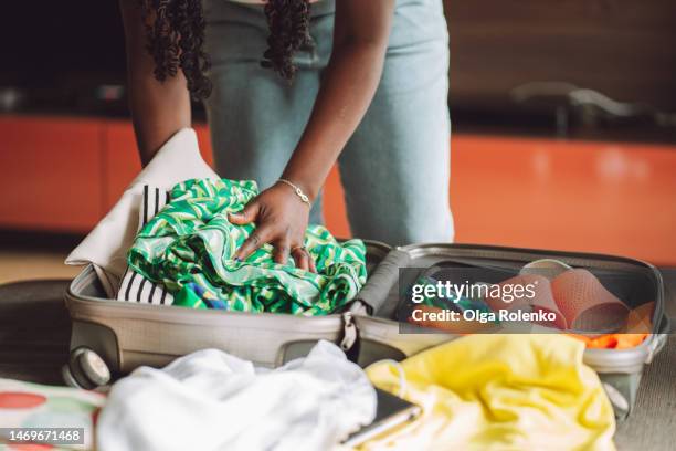
[[[63,380],[67,386],[87,390],[110,381],[110,370],[98,354],[86,346],[71,352],[68,363],[62,368]]]

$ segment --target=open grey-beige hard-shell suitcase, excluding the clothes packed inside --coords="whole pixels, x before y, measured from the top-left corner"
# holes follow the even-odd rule
[[[140,365],[162,366],[178,356],[208,347],[258,365],[278,366],[306,355],[319,339],[339,344],[348,357],[362,366],[383,358],[400,360],[457,338],[443,333],[401,333],[401,324],[393,319],[400,297],[401,268],[423,271],[443,264],[514,275],[524,264],[539,259],[557,259],[573,268],[588,269],[630,307],[655,302],[653,334],[641,345],[584,352],[584,363],[600,375],[616,417],[626,418],[643,366],[666,342],[668,324],[659,272],[651,264],[619,256],[447,243],[391,249],[383,243],[367,242],[367,284],[349,308],[320,317],[188,310],[106,300],[94,270],[87,266],[66,293],[73,319],[71,349],[91,348],[117,375]]]

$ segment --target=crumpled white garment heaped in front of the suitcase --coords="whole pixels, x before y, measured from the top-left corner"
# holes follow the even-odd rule
[[[115,384],[98,417],[101,451],[327,450],[376,416],[359,366],[319,342],[277,369],[216,349]]]

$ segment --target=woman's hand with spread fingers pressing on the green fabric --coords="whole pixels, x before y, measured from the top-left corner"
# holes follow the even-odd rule
[[[271,243],[275,248],[276,263],[285,264],[291,255],[297,268],[317,272],[313,258],[303,247],[308,218],[308,204],[291,187],[281,182],[273,185],[249,202],[244,210],[229,214],[233,224],[256,223],[256,229],[234,258],[245,260],[264,243]]]

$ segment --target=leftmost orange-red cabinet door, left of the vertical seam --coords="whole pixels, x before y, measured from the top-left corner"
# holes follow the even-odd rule
[[[101,218],[101,120],[0,116],[0,227],[87,230]]]

